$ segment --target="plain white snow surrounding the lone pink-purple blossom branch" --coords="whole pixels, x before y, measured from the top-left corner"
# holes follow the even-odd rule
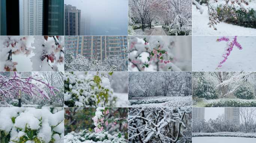
[[[193,23],[193,25],[195,25]],[[256,34],[256,31],[255,31]],[[256,36],[237,36],[243,47],[234,47],[228,59],[219,70],[219,60],[226,47],[226,42],[216,42],[219,36],[193,36],[193,71],[255,71]]]

